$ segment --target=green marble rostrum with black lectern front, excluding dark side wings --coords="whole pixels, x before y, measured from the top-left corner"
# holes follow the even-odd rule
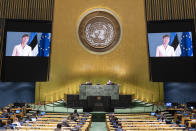
[[[80,100],[86,100],[83,110],[113,112],[112,100],[119,100],[119,86],[114,85],[80,85]]]

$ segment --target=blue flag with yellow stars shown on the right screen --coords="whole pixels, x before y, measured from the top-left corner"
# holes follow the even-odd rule
[[[192,40],[189,32],[182,33],[180,47],[181,56],[193,56]]]

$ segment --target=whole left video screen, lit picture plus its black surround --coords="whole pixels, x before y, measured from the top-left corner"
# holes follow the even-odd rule
[[[52,21],[6,19],[1,80],[48,81]]]

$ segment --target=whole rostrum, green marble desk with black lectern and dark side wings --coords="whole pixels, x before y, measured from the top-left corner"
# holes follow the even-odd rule
[[[84,112],[113,112],[114,108],[129,108],[131,95],[119,95],[118,85],[80,85],[80,93],[67,95],[67,106],[83,108]]]

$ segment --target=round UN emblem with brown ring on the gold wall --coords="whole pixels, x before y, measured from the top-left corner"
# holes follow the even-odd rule
[[[111,12],[99,9],[89,12],[81,19],[77,33],[86,49],[94,53],[105,53],[119,43],[121,28]]]

